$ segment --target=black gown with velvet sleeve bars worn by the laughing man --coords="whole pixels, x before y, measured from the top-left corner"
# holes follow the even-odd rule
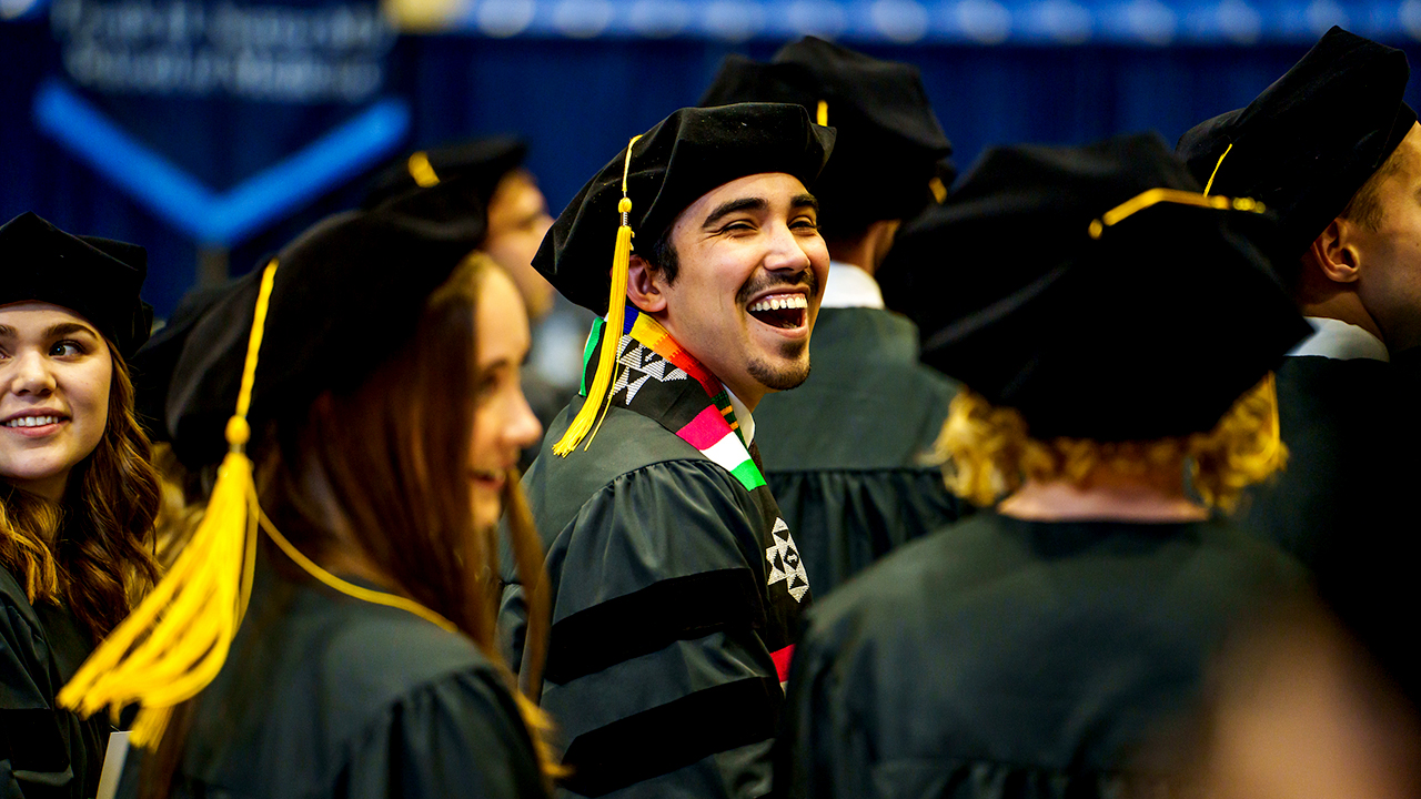
[[[558,458],[550,448],[583,405],[574,398],[523,481],[547,549],[541,707],[567,744],[564,790],[762,796],[783,702],[776,657],[787,664],[810,601],[793,536],[763,485],[746,488],[672,432],[710,407],[702,385],[638,382],[671,370],[635,344],[622,363],[645,367],[624,372],[635,402],[622,381],[591,445]],[[507,569],[504,580],[499,624],[519,663],[522,587]]]

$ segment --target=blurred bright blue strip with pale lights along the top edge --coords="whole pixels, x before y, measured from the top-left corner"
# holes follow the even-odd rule
[[[1258,44],[1331,26],[1421,38],[1421,1],[1334,0],[475,0],[450,26],[489,37],[720,41],[816,34],[892,44]]]

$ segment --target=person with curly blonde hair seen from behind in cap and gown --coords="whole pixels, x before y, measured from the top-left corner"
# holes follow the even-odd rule
[[[1211,657],[1304,586],[1211,518],[1282,466],[1269,370],[1307,326],[1250,243],[1269,219],[1199,188],[1121,136],[988,151],[939,209],[944,259],[998,264],[941,270],[924,360],[966,388],[939,446],[958,493],[1007,496],[810,610],[779,790],[1118,796],[1185,768]]]

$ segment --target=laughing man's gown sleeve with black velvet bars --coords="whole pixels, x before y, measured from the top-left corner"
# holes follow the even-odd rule
[[[647,466],[554,539],[543,707],[568,742],[573,793],[769,790],[783,691],[760,516],[733,479],[709,461]]]

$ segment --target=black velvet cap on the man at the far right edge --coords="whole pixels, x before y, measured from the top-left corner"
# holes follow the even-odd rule
[[[1211,193],[1276,210],[1277,257],[1296,260],[1411,131],[1408,77],[1400,50],[1333,27],[1253,102],[1185,132],[1177,152],[1201,183],[1214,175]]]

